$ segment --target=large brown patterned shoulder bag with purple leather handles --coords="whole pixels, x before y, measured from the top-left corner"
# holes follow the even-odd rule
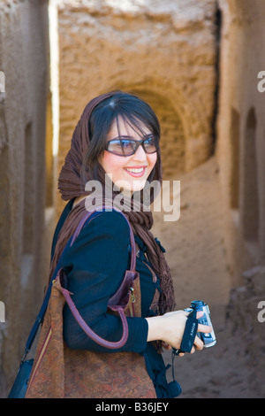
[[[122,213],[122,212],[121,212]],[[74,242],[86,223],[87,213],[72,238]],[[129,222],[128,222],[129,224]],[[130,227],[130,224],[129,224]],[[130,227],[131,267],[110,298],[110,313],[118,313],[123,321],[123,336],[117,343],[98,337],[81,319],[66,289],[67,276],[62,269],[53,281],[51,295],[37,346],[34,367],[27,387],[30,398],[155,398],[154,384],[148,376],[145,359],[135,352],[71,350],[64,343],[63,309],[67,302],[79,325],[95,342],[115,349],[125,344],[128,336],[126,316],[140,316],[140,279],[135,271],[135,243]],[[71,243],[71,244],[72,244]]]

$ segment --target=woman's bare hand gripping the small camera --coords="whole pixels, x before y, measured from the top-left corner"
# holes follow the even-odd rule
[[[197,312],[197,319],[201,317],[202,312]],[[174,311],[165,313],[162,316],[146,318],[148,320],[148,341],[162,340],[170,347],[180,348],[180,344],[184,335],[186,320],[189,312]],[[198,332],[209,333],[212,327],[206,325],[198,325]],[[195,350],[202,350],[203,343],[196,335],[191,353]],[[180,354],[182,356],[183,354]]]

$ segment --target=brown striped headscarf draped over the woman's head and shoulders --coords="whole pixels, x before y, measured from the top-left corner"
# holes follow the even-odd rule
[[[95,109],[95,106],[102,102],[102,100],[113,96],[116,92],[111,92],[98,96],[90,101],[82,113],[79,123],[74,130],[72,135],[71,149],[69,150],[65,160],[64,166],[61,170],[58,180],[58,188],[61,196],[64,200],[72,199],[76,196],[87,195],[87,192],[82,185],[81,181],[81,169],[83,159],[87,153],[87,146],[89,143],[88,135],[88,122],[91,113]],[[157,152],[157,162],[155,164],[155,175],[153,179],[162,181],[162,167],[161,167],[161,156],[160,150]],[[88,180],[94,180],[95,178],[88,178]],[[102,185],[104,184],[105,178],[100,178]],[[113,193],[114,196],[115,193]],[[134,201],[135,203],[135,201]],[[107,202],[108,204],[108,202]],[[170,312],[175,307],[175,297],[173,292],[173,284],[170,275],[170,269],[166,262],[166,259],[161,250],[160,246],[155,242],[155,238],[150,232],[153,225],[153,216],[151,211],[144,211],[143,205],[140,204],[140,210],[138,212],[133,211],[131,208],[132,200],[125,198],[125,210],[124,213],[133,228],[134,235],[138,235],[143,243],[147,246],[148,260],[153,266],[155,273],[158,275],[161,283],[162,295],[159,301],[159,313]],[[126,210],[127,208],[127,210]],[[51,263],[50,275],[52,274],[57,260],[64,249],[68,239],[73,234],[77,227],[79,220],[86,212],[85,201],[81,201],[77,204],[72,212],[69,213],[67,219],[64,221],[64,225],[58,236],[57,246],[55,249],[55,255]]]

